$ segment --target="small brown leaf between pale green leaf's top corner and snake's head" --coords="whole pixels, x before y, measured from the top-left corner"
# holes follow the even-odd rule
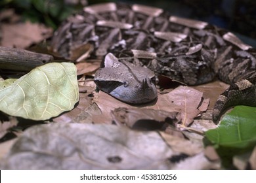
[[[93,73],[100,67],[100,62],[80,62],[75,64],[77,68],[77,75],[84,75]]]

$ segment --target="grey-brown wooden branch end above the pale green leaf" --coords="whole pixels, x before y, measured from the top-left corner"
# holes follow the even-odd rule
[[[0,69],[30,71],[51,61],[53,61],[53,56],[47,54],[0,46]]]

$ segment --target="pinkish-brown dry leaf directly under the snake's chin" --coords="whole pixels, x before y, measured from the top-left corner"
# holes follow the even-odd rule
[[[188,125],[200,114],[198,107],[200,107],[202,95],[202,92],[198,92],[193,88],[180,86],[167,94],[159,95],[158,101],[155,104],[152,102],[146,105],[131,106],[104,92],[95,93],[94,101],[105,116],[104,119],[108,119],[108,121],[112,121],[110,112],[115,108],[151,108],[167,112],[180,112],[183,125]]]

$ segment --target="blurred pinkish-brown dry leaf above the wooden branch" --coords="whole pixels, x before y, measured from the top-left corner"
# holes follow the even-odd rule
[[[31,22],[17,24],[2,24],[1,46],[26,48],[33,43],[38,43],[50,37],[53,29],[42,24]]]

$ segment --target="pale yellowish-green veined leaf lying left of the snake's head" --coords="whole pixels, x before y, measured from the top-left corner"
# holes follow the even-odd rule
[[[11,116],[47,120],[74,108],[78,99],[74,63],[48,63],[0,82],[0,110]]]

